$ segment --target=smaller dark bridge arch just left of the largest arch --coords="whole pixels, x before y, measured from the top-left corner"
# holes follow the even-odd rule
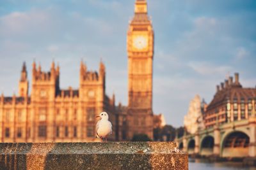
[[[204,136],[200,142],[200,155],[212,155],[214,138],[211,135]]]

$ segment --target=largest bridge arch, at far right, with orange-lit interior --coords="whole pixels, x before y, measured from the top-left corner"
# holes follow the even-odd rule
[[[248,157],[250,135],[246,131],[230,131],[221,140],[222,157]]]

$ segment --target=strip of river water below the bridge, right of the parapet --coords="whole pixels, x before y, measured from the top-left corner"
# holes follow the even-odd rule
[[[244,167],[241,162],[207,162],[202,159],[189,159],[189,170],[256,170],[256,167]]]

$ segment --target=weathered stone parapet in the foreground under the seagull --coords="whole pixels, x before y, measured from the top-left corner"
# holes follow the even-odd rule
[[[0,143],[0,169],[188,169],[172,142]]]

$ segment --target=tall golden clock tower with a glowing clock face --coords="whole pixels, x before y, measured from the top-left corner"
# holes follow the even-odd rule
[[[146,0],[136,0],[134,17],[127,32],[129,100],[129,139],[134,134],[147,134],[153,138],[152,73],[154,31]]]

